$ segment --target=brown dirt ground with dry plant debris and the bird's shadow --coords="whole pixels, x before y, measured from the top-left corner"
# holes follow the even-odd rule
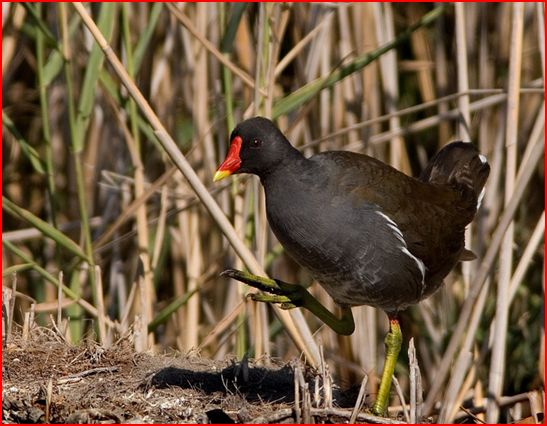
[[[306,383],[301,386],[304,393],[297,390],[297,401],[295,371]],[[75,347],[46,330],[27,341],[12,336],[4,347],[2,420],[3,423],[347,422],[358,389],[341,392],[333,385],[329,390],[332,403],[325,403],[324,397],[317,398],[320,392],[314,388],[318,385],[324,391],[322,377],[296,362],[264,367],[251,361],[218,362],[180,354],[135,353],[128,341],[120,341],[109,349],[94,343]],[[305,403],[306,399],[314,398],[316,404]],[[382,419],[361,412],[356,420]]]

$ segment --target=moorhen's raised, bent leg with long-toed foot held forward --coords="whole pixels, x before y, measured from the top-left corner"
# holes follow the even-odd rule
[[[251,298],[257,302],[279,303],[283,309],[305,308],[338,334],[349,335],[355,330],[351,308],[342,307],[342,316],[338,318],[300,285],[259,277],[237,269],[227,269],[220,275],[270,293],[252,294]]]

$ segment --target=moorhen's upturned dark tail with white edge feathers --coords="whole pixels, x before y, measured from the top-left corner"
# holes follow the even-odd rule
[[[420,180],[435,185],[449,185],[466,200],[478,206],[490,173],[486,158],[466,142],[452,142],[429,162]]]

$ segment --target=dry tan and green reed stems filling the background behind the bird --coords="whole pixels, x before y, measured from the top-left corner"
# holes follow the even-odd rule
[[[414,421],[542,420],[543,3],[3,12],[8,330],[54,327],[107,347],[129,335],[137,351],[212,359],[324,358],[339,386],[363,383],[373,398],[385,314],[354,308],[356,332],[341,337],[220,278],[245,267],[311,283],[271,233],[257,179],[213,184],[213,173],[231,129],[254,115],[306,155],[352,150],[413,175],[470,140],[492,167],[467,231],[478,260],[402,315],[416,348],[410,366],[399,360],[390,414],[406,398]]]

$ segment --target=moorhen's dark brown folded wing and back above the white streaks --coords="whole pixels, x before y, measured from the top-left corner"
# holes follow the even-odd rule
[[[313,158],[332,169],[331,182],[351,194],[355,203],[376,204],[397,224],[408,250],[427,268],[426,293],[433,292],[464,249],[469,214],[461,206],[461,194],[362,154],[334,151]]]

